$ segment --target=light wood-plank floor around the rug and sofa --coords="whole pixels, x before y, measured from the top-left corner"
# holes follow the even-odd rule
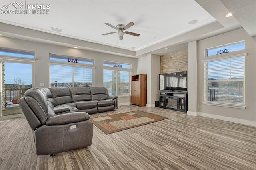
[[[133,105],[91,117],[139,109],[168,119],[108,135],[94,126],[91,146],[53,157],[36,156],[32,130],[24,117],[2,119],[0,169],[256,169],[255,127]]]

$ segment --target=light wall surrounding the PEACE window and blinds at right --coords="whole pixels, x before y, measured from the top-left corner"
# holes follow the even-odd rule
[[[245,109],[204,105],[204,50],[245,40],[245,50],[221,54],[223,56],[247,53],[245,57]],[[256,126],[256,42],[240,28],[225,34],[198,41],[198,115]],[[188,73],[190,76],[190,73]],[[195,75],[193,75],[195,76]],[[189,102],[189,101],[188,101]]]

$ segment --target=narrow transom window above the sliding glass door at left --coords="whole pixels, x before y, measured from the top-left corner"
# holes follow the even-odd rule
[[[15,49],[0,48],[0,55],[8,57],[35,58],[35,53],[31,51],[20,51]]]

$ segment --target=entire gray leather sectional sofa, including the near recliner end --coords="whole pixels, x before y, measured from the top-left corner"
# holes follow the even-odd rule
[[[118,109],[118,97],[104,87],[32,88],[18,102],[33,130],[37,155],[90,146],[89,114]]]

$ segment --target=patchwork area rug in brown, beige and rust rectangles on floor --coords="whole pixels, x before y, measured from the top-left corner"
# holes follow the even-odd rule
[[[93,124],[105,134],[119,132],[121,130],[146,125],[148,123],[161,121],[164,119],[167,119],[167,117],[154,115],[144,111],[132,111],[91,118]]]

